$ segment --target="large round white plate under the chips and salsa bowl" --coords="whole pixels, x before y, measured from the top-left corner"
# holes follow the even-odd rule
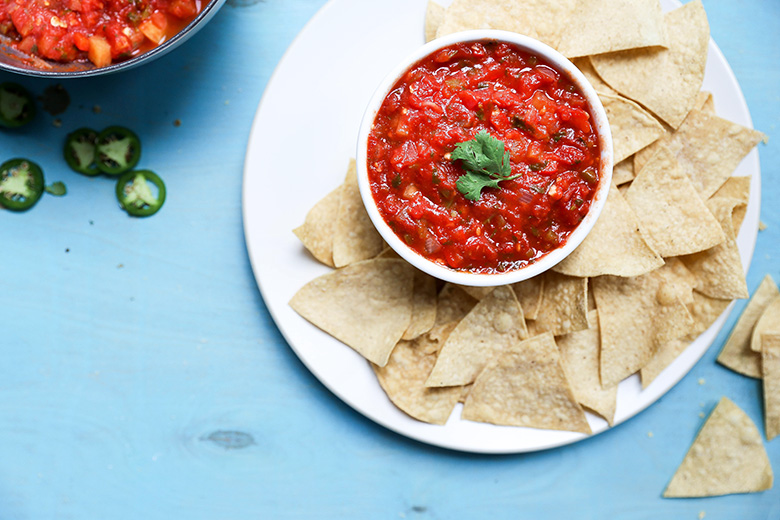
[[[665,8],[676,7],[663,1]],[[244,164],[244,232],[255,278],[268,310],[309,370],[334,394],[377,423],[407,437],[479,453],[517,453],[586,438],[572,432],[494,426],[460,420],[419,422],[385,396],[368,363],[298,316],[287,304],[305,283],[329,271],[303,249],[292,229],[338,186],[354,157],[363,110],[397,62],[424,43],[426,0],[331,0],[282,58],[255,115]],[[752,127],[747,105],[723,54],[710,41],[703,89],[718,114]],[[751,175],[751,195],[738,244],[745,271],[758,232],[760,177],[753,150],[735,175]],[[645,390],[634,375],[620,384],[615,424],[666,393],[693,367],[732,306]],[[592,414],[595,433],[607,428]]]

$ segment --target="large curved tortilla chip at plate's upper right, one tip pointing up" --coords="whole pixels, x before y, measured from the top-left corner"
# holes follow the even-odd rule
[[[710,28],[700,0],[664,15],[666,49],[591,56],[604,81],[677,128],[696,103],[704,79]]]

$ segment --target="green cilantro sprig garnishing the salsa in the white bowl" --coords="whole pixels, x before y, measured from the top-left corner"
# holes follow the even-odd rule
[[[467,199],[479,200],[483,188],[498,188],[499,182],[520,176],[512,175],[509,157],[502,141],[480,130],[472,139],[458,143],[450,154],[466,170],[455,186]]]

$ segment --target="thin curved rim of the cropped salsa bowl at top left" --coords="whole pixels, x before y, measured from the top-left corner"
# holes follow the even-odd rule
[[[54,70],[42,70],[34,67],[22,67],[7,63],[0,60],[0,71],[11,72],[14,74],[21,74],[30,77],[43,77],[43,78],[58,78],[58,79],[72,79],[72,78],[85,78],[102,76],[104,74],[111,74],[123,70],[132,69],[146,63],[148,61],[159,58],[178,47],[181,43],[187,41],[193,36],[201,27],[205,25],[205,22],[210,20],[219,10],[220,7],[226,2],[226,0],[209,0],[206,5],[200,10],[200,12],[190,20],[190,22],[181,28],[179,32],[174,34],[171,38],[165,40],[160,45],[149,49],[146,52],[133,56],[128,60],[118,61],[105,67],[95,67],[81,70],[72,71],[54,71]],[[10,48],[9,50],[15,51]],[[18,51],[17,51],[18,52]],[[43,58],[37,58],[43,60]],[[46,61],[46,60],[43,60]]]

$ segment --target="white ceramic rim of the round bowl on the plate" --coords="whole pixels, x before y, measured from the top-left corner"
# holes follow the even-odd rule
[[[577,228],[569,235],[563,246],[550,251],[536,260],[534,263],[512,271],[495,274],[472,273],[454,270],[428,260],[407,246],[406,243],[401,240],[395,234],[395,232],[393,232],[390,226],[380,215],[374,197],[371,193],[367,168],[368,136],[374,126],[374,119],[377,112],[382,106],[385,97],[390,92],[393,85],[395,85],[396,81],[398,81],[398,79],[418,61],[444,47],[448,47],[456,43],[484,40],[496,40],[514,44],[521,50],[539,56],[559,72],[567,75],[569,79],[579,88],[580,92],[584,95],[588,105],[590,106],[590,113],[593,116],[595,122],[601,150],[601,171],[599,186],[596,190],[596,193],[594,194],[590,210],[582,222],[580,222],[579,226],[577,226]],[[593,86],[588,82],[582,72],[580,72],[579,69],[574,66],[574,64],[572,64],[555,49],[533,38],[508,31],[465,31],[450,34],[423,45],[414,53],[407,56],[406,59],[399,63],[387,75],[371,98],[371,101],[369,102],[368,107],[366,108],[366,112],[363,116],[363,121],[360,125],[360,132],[358,134],[356,160],[360,195],[363,198],[363,204],[368,211],[368,215],[371,218],[371,221],[374,223],[377,231],[379,231],[379,234],[382,235],[382,238],[384,238],[388,245],[393,248],[404,260],[421,271],[448,282],[477,287],[497,286],[520,282],[543,273],[566,258],[566,256],[568,256],[569,253],[571,253],[585,239],[585,236],[593,228],[593,225],[596,223],[596,220],[601,214],[601,210],[607,200],[609,186],[612,182],[612,134],[609,130],[607,114],[604,111],[604,107],[601,105],[601,101],[599,101],[598,95],[593,89]]]

